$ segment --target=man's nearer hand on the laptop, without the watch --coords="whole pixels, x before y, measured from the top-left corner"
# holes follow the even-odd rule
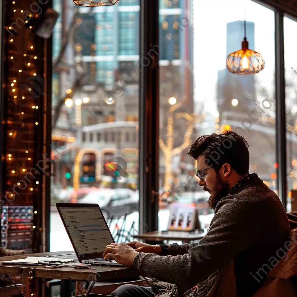
[[[124,266],[132,267],[133,260],[138,254],[138,252],[132,249],[132,247],[129,247],[127,244],[111,243],[105,247],[103,258],[105,261],[109,258]]]

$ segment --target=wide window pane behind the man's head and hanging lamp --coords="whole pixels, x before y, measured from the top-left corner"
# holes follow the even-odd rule
[[[254,1],[223,2],[159,1],[160,230],[167,229],[175,201],[197,206],[201,227],[210,224],[209,194],[192,178],[196,163],[187,156],[201,135],[232,130],[245,137],[249,172],[277,192],[274,12]],[[249,48],[266,63],[256,75],[234,75],[225,67],[228,54],[241,49],[244,10]]]

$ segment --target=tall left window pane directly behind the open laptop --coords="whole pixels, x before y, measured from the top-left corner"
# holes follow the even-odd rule
[[[78,8],[53,0],[53,8],[60,16],[53,33],[50,251],[72,249],[57,202],[99,204],[115,240],[125,241],[139,217],[139,84],[129,77],[139,61],[139,1]]]

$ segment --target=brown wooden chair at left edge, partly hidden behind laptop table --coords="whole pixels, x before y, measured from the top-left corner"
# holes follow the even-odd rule
[[[0,257],[17,256],[24,254],[25,251],[14,251],[11,249],[5,249],[4,247],[0,247]],[[24,296],[29,297],[28,277],[14,276],[12,277],[12,279],[17,284],[18,288],[24,294]],[[10,297],[14,294],[19,294],[19,291],[15,287],[15,285],[10,281],[10,279],[7,279],[7,285],[5,285],[4,287],[0,287],[0,296]]]

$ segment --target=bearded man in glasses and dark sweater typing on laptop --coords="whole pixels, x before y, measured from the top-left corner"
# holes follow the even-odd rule
[[[269,258],[287,240],[285,209],[256,173],[249,174],[248,144],[235,132],[201,136],[188,155],[197,159],[199,185],[209,192],[214,209],[206,236],[198,244],[170,244],[167,256],[160,246],[132,241],[107,246],[103,257],[185,290],[193,288],[191,295],[197,297],[206,296],[218,269],[234,259],[237,296],[253,296],[271,270]],[[150,287],[123,285],[112,295],[156,293]]]

